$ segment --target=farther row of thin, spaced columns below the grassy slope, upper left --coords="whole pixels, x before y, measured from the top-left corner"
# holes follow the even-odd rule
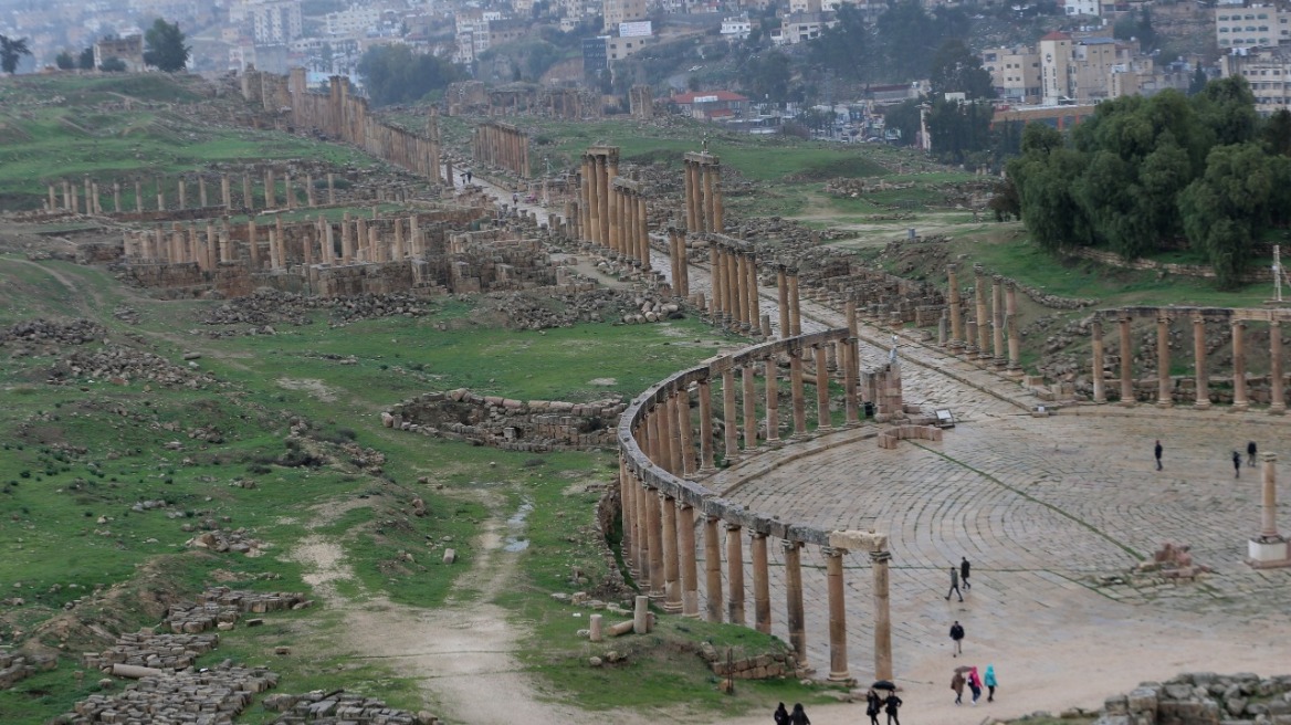
[[[190,179],[188,177],[179,177],[174,184],[174,206],[168,205],[167,200],[167,184],[161,177],[158,177],[154,182],[154,188],[156,190],[156,206],[154,210],[181,210],[188,208],[205,209],[210,206],[210,199],[207,191],[207,177],[198,175],[198,197],[196,206],[190,206]],[[75,182],[68,182],[67,179],[61,181],[58,184],[48,184],[48,200],[46,208],[49,210],[65,209],[72,213],[86,213],[86,214],[102,214],[106,212],[102,204],[102,192],[107,187],[101,187],[97,181],[85,177],[84,179],[84,192],[81,191],[83,184]],[[283,186],[285,188],[284,201],[288,209],[294,209],[300,204],[298,194],[294,187],[290,172],[284,173]],[[119,179],[112,181],[111,194],[112,194],[112,213],[123,213],[125,208],[121,204],[121,188],[123,184]],[[278,182],[275,181],[275,173],[272,169],[265,170],[263,182],[263,209],[274,209],[278,206]],[[328,204],[336,204],[336,177],[333,173],[327,174],[327,192]],[[232,184],[230,182],[229,174],[221,174],[219,177],[219,195],[221,205],[229,210],[235,210]],[[134,212],[143,213],[143,181],[139,178],[134,179]],[[316,206],[318,199],[314,194],[314,174],[305,174],[305,199],[307,206]],[[250,174],[243,174],[241,178],[241,206],[238,209],[254,209],[257,208],[256,197],[252,196],[252,183]]]

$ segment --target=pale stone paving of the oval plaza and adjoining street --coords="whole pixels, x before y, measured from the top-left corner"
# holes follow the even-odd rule
[[[664,254],[652,263],[667,275]],[[709,294],[705,268],[692,266],[691,288]],[[777,319],[775,290],[763,290],[763,312]],[[803,313],[806,332],[846,323],[808,301]],[[887,356],[889,332],[865,328],[861,338],[864,364]],[[1291,570],[1242,564],[1260,522],[1260,477],[1243,468],[1234,480],[1230,462],[1248,440],[1291,462],[1291,419],[1112,406],[1032,418],[1042,401],[1016,383],[913,341],[900,355],[906,400],[950,408],[961,421],[941,444],[883,450],[875,428],[862,427],[799,444],[811,452],[793,461],[788,452],[755,455],[705,482],[781,519],[888,533],[895,667],[914,706],[908,716],[922,711],[914,722],[986,715],[950,704],[950,671],[964,662],[1001,672],[995,716],[1024,713],[1008,711],[1004,693],[1043,691],[1048,710],[1096,707],[1185,670],[1291,672]],[[1162,472],[1155,439],[1166,448]],[[1291,495],[1282,501],[1291,528]],[[1177,586],[1130,578],[1162,542],[1189,544],[1215,573]],[[773,631],[788,639],[782,557],[769,548]],[[948,569],[962,556],[973,564],[963,604],[945,599]],[[864,680],[873,673],[871,571],[862,553],[844,561],[849,664]],[[826,672],[824,559],[808,550],[803,566],[809,659]],[[1128,583],[1103,586],[1109,575]],[[751,622],[751,592],[746,609]],[[968,632],[964,659],[950,657],[957,619]]]

